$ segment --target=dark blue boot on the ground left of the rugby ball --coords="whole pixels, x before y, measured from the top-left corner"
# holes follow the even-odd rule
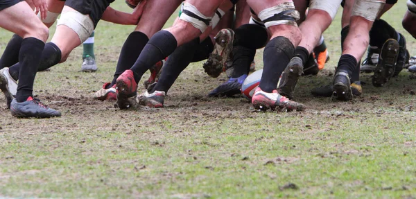
[[[247,75],[239,76],[238,78],[229,78],[227,82],[223,83],[216,87],[216,89],[209,92],[208,96],[234,96],[236,94],[241,94],[241,85],[247,78]]]

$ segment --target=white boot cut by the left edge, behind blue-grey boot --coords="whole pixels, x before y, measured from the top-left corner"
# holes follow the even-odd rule
[[[0,89],[4,94],[4,98],[6,98],[7,107],[10,108],[10,103],[14,98],[13,96],[15,96],[17,92],[17,83],[12,76],[10,76],[8,67],[0,70]]]

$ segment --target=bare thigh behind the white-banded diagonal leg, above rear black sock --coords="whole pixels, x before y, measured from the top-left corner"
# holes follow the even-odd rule
[[[181,2],[182,0],[148,0],[135,31],[152,37],[163,28]]]

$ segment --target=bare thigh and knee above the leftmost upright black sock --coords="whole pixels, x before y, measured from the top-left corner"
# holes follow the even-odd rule
[[[37,18],[26,1],[1,10],[0,26],[20,37],[33,36],[31,34],[33,31],[41,30],[44,27],[42,21]]]

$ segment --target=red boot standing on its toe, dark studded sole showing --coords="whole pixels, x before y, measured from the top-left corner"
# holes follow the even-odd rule
[[[117,105],[127,109],[133,104],[129,98],[137,96],[137,83],[132,70],[125,70],[116,80]]]

